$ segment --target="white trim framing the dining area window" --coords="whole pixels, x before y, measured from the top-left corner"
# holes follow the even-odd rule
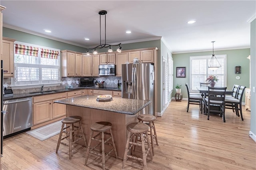
[[[203,57],[212,57],[212,55],[202,55],[202,56],[190,56],[190,75],[189,75],[189,87],[192,87],[192,59],[202,59]],[[222,55],[215,55],[215,57],[218,59],[220,57],[224,57],[224,76],[225,76],[225,79],[224,79],[224,86],[227,86],[227,55],[226,54],[222,54]],[[195,91],[195,90],[191,90],[191,92],[198,92],[198,91]]]

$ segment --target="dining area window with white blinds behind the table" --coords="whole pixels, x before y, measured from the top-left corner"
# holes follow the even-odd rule
[[[190,57],[190,90],[197,91],[196,87],[205,83],[209,75],[216,75],[218,82],[216,87],[226,87],[226,55],[215,55],[221,67],[217,70],[208,69],[208,63],[212,56]]]

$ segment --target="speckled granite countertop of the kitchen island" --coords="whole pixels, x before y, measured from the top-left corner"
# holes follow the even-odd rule
[[[144,107],[151,103],[151,101],[147,100],[124,99],[118,97],[113,97],[112,101],[109,102],[98,102],[96,101],[96,99],[97,96],[85,95],[58,100],[54,102],[78,107],[99,109],[103,111],[123,113],[128,115],[135,115],[136,113],[138,113],[138,111],[142,110]]]

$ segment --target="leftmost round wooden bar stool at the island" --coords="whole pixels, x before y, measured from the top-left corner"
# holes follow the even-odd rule
[[[82,119],[82,117],[80,117],[80,116],[70,116],[70,117],[66,117],[66,118],[61,120],[62,127],[61,127],[61,130],[60,130],[60,137],[59,137],[59,140],[58,140],[56,153],[58,153],[60,144],[63,144],[65,146],[69,146],[69,159],[71,159],[72,144],[76,143],[78,140],[80,140],[82,138],[84,140],[84,145],[86,147],[86,138],[84,136],[84,131],[83,131],[83,128],[82,128],[81,119]],[[79,127],[74,126],[74,123],[79,123]],[[69,126],[64,127],[65,124],[69,125]],[[68,130],[68,128],[69,128],[69,130]],[[77,130],[81,130],[82,136],[74,134],[74,132],[77,131]],[[66,136],[64,138],[62,138],[62,133],[66,133]],[[78,137],[76,140],[74,140],[75,136]],[[65,142],[61,142],[64,139],[68,139],[69,143],[66,144]]]

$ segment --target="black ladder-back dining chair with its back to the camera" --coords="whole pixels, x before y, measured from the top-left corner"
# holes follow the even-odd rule
[[[204,99],[205,108],[207,110],[207,119],[210,118],[210,113],[220,113],[223,122],[225,120],[225,95],[227,87],[208,87],[208,97]]]

